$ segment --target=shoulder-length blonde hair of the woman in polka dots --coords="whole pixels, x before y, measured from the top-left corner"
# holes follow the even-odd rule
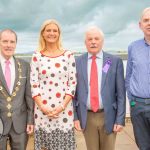
[[[44,32],[46,26],[48,26],[49,24],[55,24],[58,27],[59,37],[58,37],[58,41],[57,41],[57,48],[62,49],[60,26],[56,20],[51,19],[51,20],[44,21],[44,23],[41,26],[38,51],[45,50],[45,48],[46,48],[46,42],[43,38],[43,32]]]

